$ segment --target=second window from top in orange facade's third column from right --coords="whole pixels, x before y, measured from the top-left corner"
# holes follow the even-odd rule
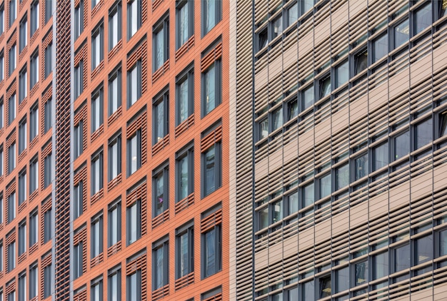
[[[161,92],[154,98],[152,121],[154,128],[152,145],[155,145],[169,133],[169,91]]]

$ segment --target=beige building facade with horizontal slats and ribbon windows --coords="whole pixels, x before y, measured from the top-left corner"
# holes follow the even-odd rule
[[[445,298],[446,9],[237,2],[233,300]]]

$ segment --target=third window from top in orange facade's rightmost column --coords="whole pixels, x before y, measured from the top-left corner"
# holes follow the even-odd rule
[[[222,185],[221,143],[214,143],[202,153],[202,197],[214,192]]]

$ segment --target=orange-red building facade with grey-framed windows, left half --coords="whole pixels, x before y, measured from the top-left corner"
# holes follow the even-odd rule
[[[228,299],[228,15],[0,4],[1,300]]]

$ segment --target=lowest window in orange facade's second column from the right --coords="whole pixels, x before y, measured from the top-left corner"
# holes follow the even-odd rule
[[[194,272],[194,220],[176,229],[176,279]]]

